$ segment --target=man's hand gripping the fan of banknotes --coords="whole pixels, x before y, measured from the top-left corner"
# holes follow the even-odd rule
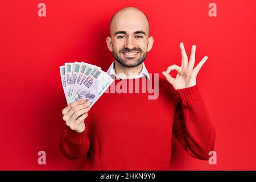
[[[88,111],[90,103],[85,99],[71,102],[67,107],[62,110],[63,120],[71,130],[77,133],[83,133],[85,131],[84,119],[88,117]]]

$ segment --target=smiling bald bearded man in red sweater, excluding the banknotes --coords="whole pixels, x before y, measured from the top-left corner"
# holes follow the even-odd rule
[[[154,39],[147,16],[135,7],[114,14],[106,43],[115,59],[107,71],[114,78],[110,87],[137,84],[126,85],[129,92],[103,94],[92,109],[86,100],[65,107],[63,155],[71,160],[84,157],[85,170],[169,170],[174,134],[189,155],[208,160],[215,131],[196,84],[207,56],[194,67],[196,46],[188,61],[180,43],[180,67],[171,65],[163,71],[166,79],[148,72],[143,61]],[[172,70],[177,72],[175,78]],[[148,99],[149,92],[136,92],[136,86],[143,89],[144,80],[159,88],[157,99]]]

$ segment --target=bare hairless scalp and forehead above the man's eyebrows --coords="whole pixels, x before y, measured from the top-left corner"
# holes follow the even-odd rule
[[[149,21],[141,10],[135,7],[125,7],[115,13],[110,20],[110,36],[114,35],[117,30],[126,27],[141,28],[149,34]]]

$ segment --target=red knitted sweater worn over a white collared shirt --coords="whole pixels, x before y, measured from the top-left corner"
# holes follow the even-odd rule
[[[71,160],[86,156],[85,170],[169,170],[173,133],[189,155],[208,160],[215,131],[198,86],[175,90],[159,78],[158,99],[148,100],[150,95],[104,93],[90,109],[84,133],[65,126],[61,152]]]

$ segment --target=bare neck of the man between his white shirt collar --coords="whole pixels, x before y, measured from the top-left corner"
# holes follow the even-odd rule
[[[114,67],[115,74],[121,78],[133,78],[136,75],[141,73],[143,68],[143,63],[138,65],[137,67],[124,67],[122,64],[115,61]]]

